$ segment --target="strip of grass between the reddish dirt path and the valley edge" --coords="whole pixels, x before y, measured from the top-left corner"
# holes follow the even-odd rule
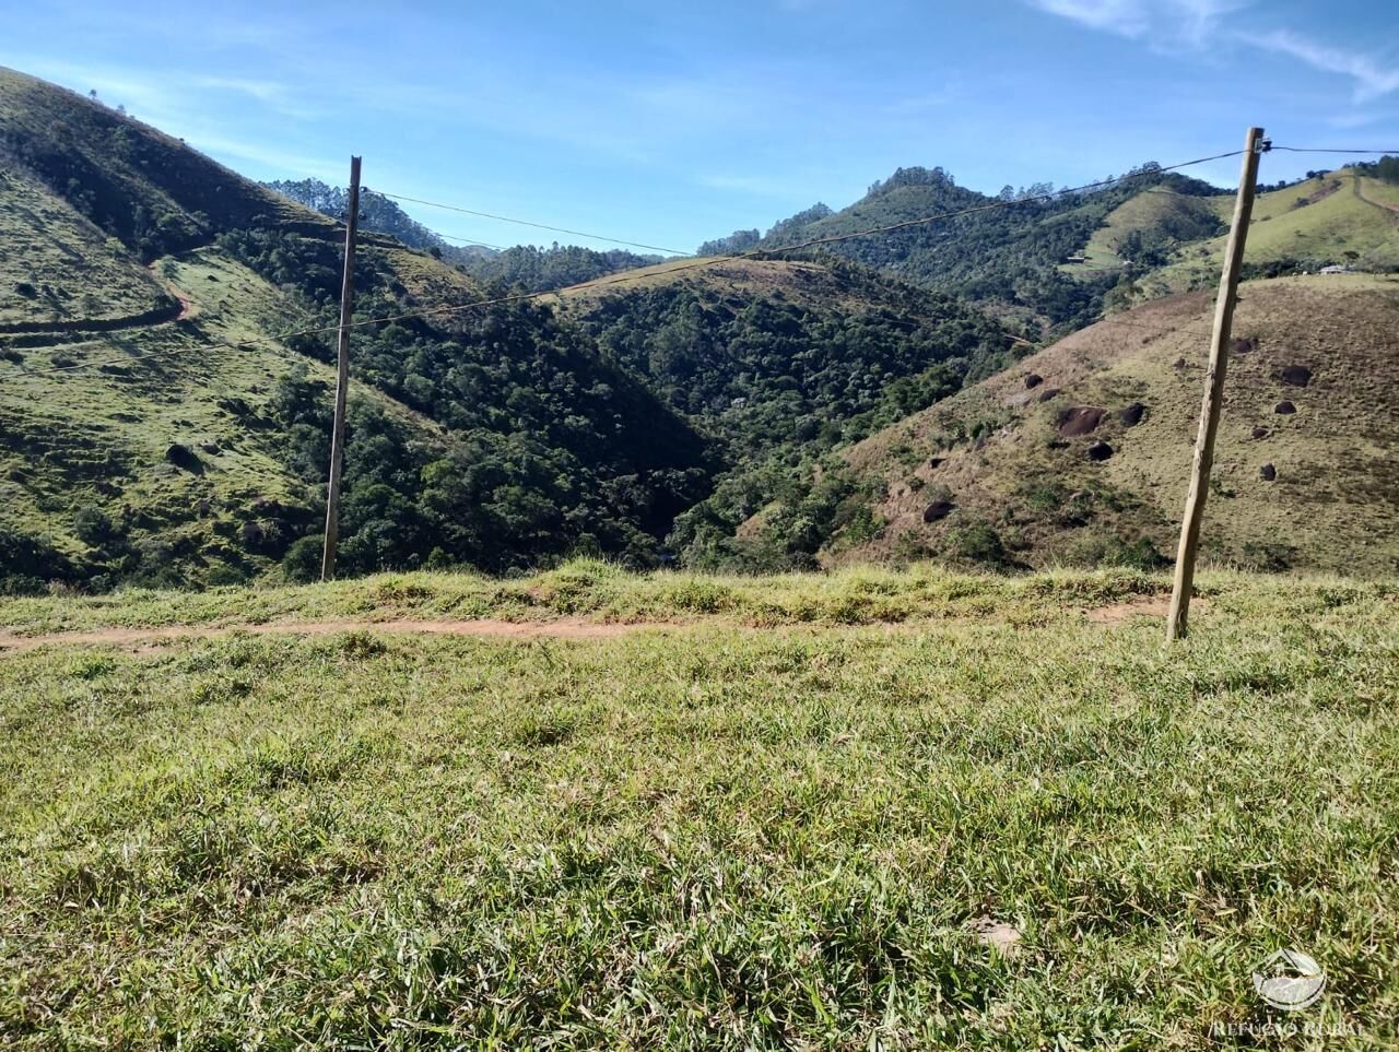
[[[1095,607],[1168,589],[1164,578],[1130,571],[1039,576],[949,574],[937,567],[894,572],[873,567],[813,576],[644,576],[590,560],[533,576],[381,574],[326,585],[224,588],[204,592],[122,589],[104,596],[0,599],[0,627],[17,635],[101,628],[238,625],[361,618],[575,617],[635,624],[720,617],[727,624],[897,624],[940,617],[1035,621],[1060,606]]]

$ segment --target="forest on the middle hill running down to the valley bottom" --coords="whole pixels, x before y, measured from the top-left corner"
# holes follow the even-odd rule
[[[1018,344],[1006,326],[967,302],[834,256],[821,263],[795,270],[814,285],[796,283],[800,297],[688,280],[613,294],[583,318],[607,355],[722,450],[713,494],[681,515],[669,539],[686,564],[811,565],[835,534],[873,527],[831,450],[1014,361]],[[783,511],[764,540],[734,540],[737,526],[772,502]]]

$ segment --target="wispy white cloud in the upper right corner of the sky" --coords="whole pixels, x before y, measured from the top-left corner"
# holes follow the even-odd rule
[[[1157,50],[1248,46],[1284,55],[1322,73],[1354,81],[1354,101],[1399,91],[1399,69],[1360,52],[1321,43],[1291,29],[1244,32],[1228,25],[1242,0],[1027,0],[1031,7],[1080,25],[1142,41]]]

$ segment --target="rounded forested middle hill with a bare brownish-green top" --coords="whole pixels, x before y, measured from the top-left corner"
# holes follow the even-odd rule
[[[565,290],[564,309],[736,463],[863,436],[1014,360],[1014,336],[983,312],[837,257],[627,278]]]

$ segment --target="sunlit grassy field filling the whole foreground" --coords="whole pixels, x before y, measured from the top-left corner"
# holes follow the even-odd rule
[[[1396,1046],[1399,585],[1207,575],[1174,652],[1084,613],[1161,588],[581,564],[0,603],[15,635],[635,624],[0,651],[0,1045]],[[1293,1017],[1251,983],[1283,947],[1328,976]],[[1266,1030],[1304,1023],[1333,1035]]]

